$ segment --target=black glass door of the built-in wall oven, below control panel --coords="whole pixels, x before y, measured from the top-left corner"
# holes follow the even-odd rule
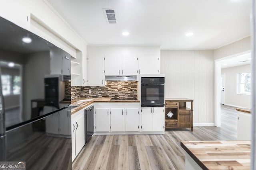
[[[164,106],[164,83],[141,84],[141,107]]]

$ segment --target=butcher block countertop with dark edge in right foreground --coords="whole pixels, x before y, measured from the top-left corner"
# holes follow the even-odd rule
[[[251,141],[182,141],[203,170],[249,170]]]

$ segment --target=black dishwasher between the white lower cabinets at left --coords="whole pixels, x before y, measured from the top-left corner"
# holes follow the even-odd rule
[[[84,126],[84,132],[85,132],[85,143],[88,143],[88,141],[91,139],[93,135],[93,106],[88,107],[84,110],[84,117],[85,117],[85,126]]]

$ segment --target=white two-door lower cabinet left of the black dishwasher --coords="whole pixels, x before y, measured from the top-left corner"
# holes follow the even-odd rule
[[[82,147],[84,147],[84,109],[72,114],[72,161],[76,158]]]

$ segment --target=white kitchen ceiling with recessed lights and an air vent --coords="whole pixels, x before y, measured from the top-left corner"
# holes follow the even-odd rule
[[[47,1],[89,45],[216,49],[250,35],[250,0]],[[116,24],[102,8],[115,8]]]

